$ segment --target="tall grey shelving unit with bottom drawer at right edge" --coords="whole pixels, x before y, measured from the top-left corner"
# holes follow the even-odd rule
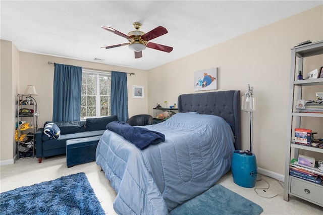
[[[284,200],[288,201],[289,195],[293,195],[319,206],[323,206],[323,185],[290,175],[290,160],[292,158],[298,159],[300,149],[320,153],[319,157],[323,156],[323,148],[298,145],[292,142],[292,139],[295,135],[294,128],[300,128],[302,118],[323,118],[323,113],[305,113],[297,112],[295,110],[295,101],[297,99],[302,99],[302,89],[304,87],[316,85],[323,86],[323,78],[295,80],[298,71],[303,71],[304,58],[317,55],[323,55],[323,41],[291,48],[290,94],[287,117],[287,150],[285,161]],[[298,71],[296,71],[297,61]],[[323,65],[317,66],[320,67]],[[294,153],[292,153],[293,151]]]

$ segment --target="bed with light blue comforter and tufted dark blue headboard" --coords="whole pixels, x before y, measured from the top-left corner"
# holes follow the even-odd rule
[[[165,135],[142,150],[111,130],[102,135],[96,164],[117,192],[118,214],[168,214],[230,170],[241,146],[240,91],[182,94],[178,109],[163,123],[139,126]]]

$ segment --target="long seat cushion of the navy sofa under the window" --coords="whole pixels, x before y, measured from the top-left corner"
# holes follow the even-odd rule
[[[57,148],[65,148],[67,140],[98,136],[98,135],[102,135],[104,131],[105,129],[99,130],[99,131],[84,131],[84,132],[79,132],[74,134],[62,134],[60,139],[51,139],[51,140],[42,142],[42,150],[46,151],[46,150],[57,149]]]

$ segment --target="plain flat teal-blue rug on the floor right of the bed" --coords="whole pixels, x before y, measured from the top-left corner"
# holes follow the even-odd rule
[[[178,205],[170,211],[170,215],[258,215],[262,211],[259,205],[217,184],[195,198]]]

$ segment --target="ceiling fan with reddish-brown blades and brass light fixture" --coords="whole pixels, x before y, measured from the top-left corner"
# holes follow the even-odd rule
[[[117,44],[117,45],[104,46],[101,48],[108,49],[108,48],[115,48],[115,47],[119,47],[119,46],[129,45],[129,48],[131,50],[134,50],[134,52],[135,52],[135,58],[141,58],[142,57],[142,50],[144,50],[146,47],[153,48],[153,49],[160,50],[160,51],[166,51],[166,52],[171,52],[173,50],[173,47],[149,42],[149,40],[152,40],[158,36],[168,33],[166,28],[164,28],[163,26],[158,26],[155,29],[153,29],[147,33],[139,31],[139,28],[141,27],[141,23],[139,23],[139,22],[134,22],[133,27],[136,30],[130,31],[128,33],[128,35],[121,33],[120,31],[117,31],[111,27],[102,27],[103,29],[105,29],[107,31],[110,31],[112,33],[115,33],[119,36],[122,36],[122,37],[128,39],[129,42]]]

